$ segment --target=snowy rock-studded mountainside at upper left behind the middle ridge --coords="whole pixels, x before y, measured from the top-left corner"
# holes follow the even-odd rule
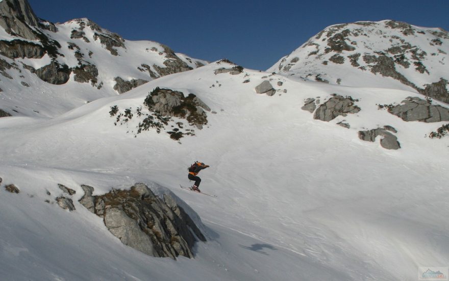
[[[157,42],[125,40],[86,18],[38,19],[26,0],[6,0],[0,11],[0,110],[9,115],[53,117],[207,64]]]

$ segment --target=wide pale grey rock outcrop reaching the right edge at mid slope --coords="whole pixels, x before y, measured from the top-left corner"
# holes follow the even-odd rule
[[[381,106],[382,108],[383,106]],[[449,121],[449,109],[440,105],[432,105],[430,99],[408,97],[402,105],[384,106],[388,112],[402,118],[404,121],[440,122]]]

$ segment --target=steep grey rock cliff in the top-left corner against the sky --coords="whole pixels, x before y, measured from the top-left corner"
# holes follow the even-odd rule
[[[0,2],[0,26],[11,35],[37,40],[38,18],[27,0],[3,0]]]

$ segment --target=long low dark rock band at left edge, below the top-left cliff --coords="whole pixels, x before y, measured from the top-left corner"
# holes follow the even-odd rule
[[[23,40],[0,40],[0,54],[10,59],[40,59],[45,55],[42,45]]]

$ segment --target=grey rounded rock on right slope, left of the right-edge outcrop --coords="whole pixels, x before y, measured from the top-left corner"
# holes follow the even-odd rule
[[[346,114],[354,114],[359,111],[360,108],[354,105],[353,98],[333,94],[333,97],[318,107],[313,118],[330,121],[339,115],[346,116]]]

